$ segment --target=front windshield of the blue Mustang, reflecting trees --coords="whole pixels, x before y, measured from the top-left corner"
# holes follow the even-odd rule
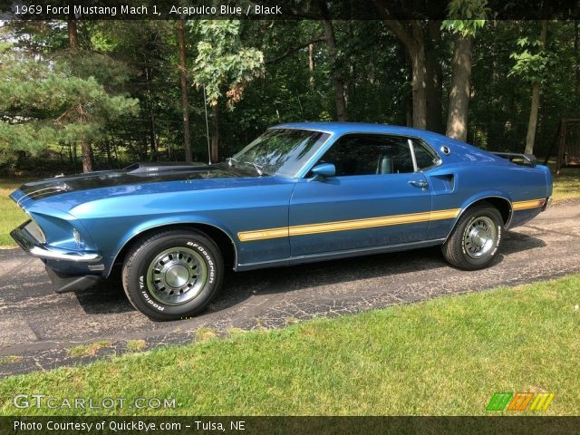
[[[255,168],[258,174],[295,177],[316,150],[330,137],[321,131],[268,130],[239,151],[232,164]]]

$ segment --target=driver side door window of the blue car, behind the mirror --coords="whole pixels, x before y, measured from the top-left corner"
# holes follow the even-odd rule
[[[408,140],[377,134],[343,136],[326,151],[320,163],[333,163],[339,177],[414,171]]]

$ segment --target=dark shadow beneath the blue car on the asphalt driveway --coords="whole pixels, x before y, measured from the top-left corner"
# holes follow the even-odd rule
[[[505,243],[494,266],[505,257],[528,249],[545,247],[546,243],[536,237],[507,231]],[[439,247],[430,247],[391,254],[358,256],[341,260],[324,261],[298,266],[260,269],[228,273],[221,293],[208,310],[198,317],[226,311],[253,295],[282,295],[325,285],[347,285],[353,281],[376,279],[378,284],[385,278],[421,271],[448,269],[434,272],[433,279],[445,279],[453,269],[440,253]],[[135,308],[128,301],[121,280],[103,282],[76,294],[79,304],[87,314],[131,313]]]

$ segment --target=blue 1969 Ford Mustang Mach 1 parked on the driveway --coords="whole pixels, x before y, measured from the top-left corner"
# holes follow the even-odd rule
[[[512,161],[513,160],[513,161]],[[489,266],[506,228],[549,205],[533,156],[493,154],[429,131],[277,125],[227,162],[135,164],[24,184],[14,240],[59,293],[121,267],[155,320],[203,310],[226,267],[289,266],[440,245],[452,266]],[[388,267],[388,264],[385,264]]]

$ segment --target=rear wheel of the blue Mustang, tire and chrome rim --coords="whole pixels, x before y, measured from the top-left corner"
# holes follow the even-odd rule
[[[469,208],[441,247],[451,266],[464,270],[488,267],[503,237],[503,218],[497,208],[479,204]]]

